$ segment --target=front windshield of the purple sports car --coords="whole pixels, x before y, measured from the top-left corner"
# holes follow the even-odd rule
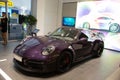
[[[77,36],[78,30],[71,28],[58,28],[56,31],[51,33],[49,36],[59,39],[65,39],[72,41]]]

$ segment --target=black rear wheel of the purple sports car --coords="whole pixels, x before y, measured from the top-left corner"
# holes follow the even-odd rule
[[[100,57],[102,55],[103,49],[104,49],[104,43],[96,42],[93,50],[93,57]]]

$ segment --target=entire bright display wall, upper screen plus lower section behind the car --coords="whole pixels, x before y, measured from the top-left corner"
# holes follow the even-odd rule
[[[120,1],[83,1],[77,4],[76,28],[101,31],[105,48],[120,51]]]

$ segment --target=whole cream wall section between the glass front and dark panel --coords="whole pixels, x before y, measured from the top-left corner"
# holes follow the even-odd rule
[[[46,35],[56,29],[59,0],[32,0],[32,3],[32,9],[35,9],[32,14],[37,17],[37,28],[40,29],[38,35]]]

